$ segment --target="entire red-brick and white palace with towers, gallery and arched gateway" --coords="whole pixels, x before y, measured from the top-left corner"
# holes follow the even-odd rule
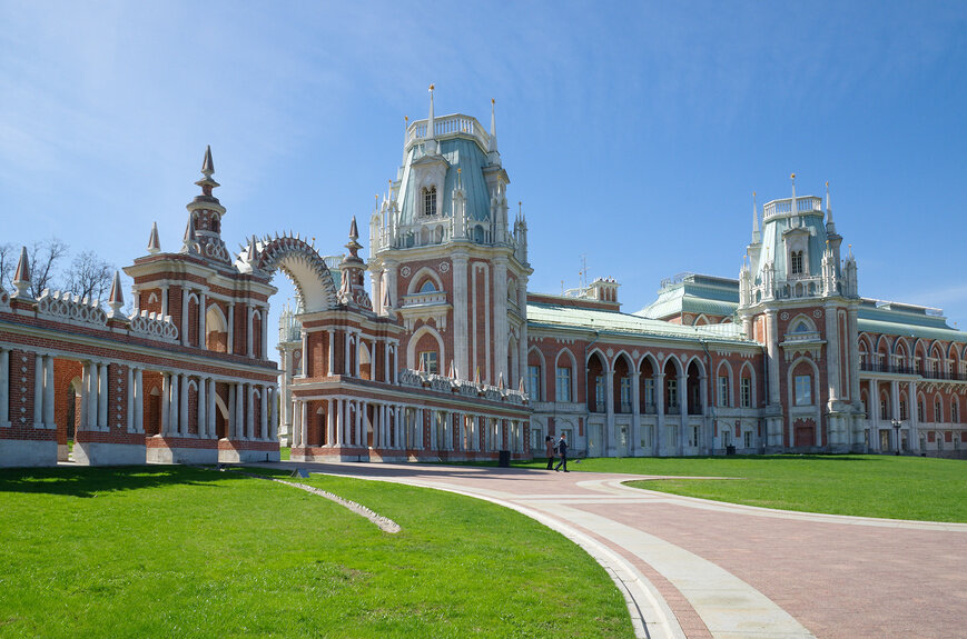
[[[431,91],[365,261],[355,219],[342,256],[293,234],[229,253],[210,151],[201,172],[182,246],[155,228],[125,268],[131,313],[117,277],[106,307],[34,299],[21,253],[0,291],[0,466],[278,459],[279,439],[297,460],[526,459],[547,435],[611,457],[964,455],[967,335],[861,298],[828,191],[795,176],[753,203],[738,279],[685,273],[626,313],[614,279],[529,290],[493,110],[490,129],[437,118]],[[278,271],[297,299],[277,367]]]

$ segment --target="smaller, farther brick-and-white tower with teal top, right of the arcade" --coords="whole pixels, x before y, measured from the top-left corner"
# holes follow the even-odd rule
[[[857,267],[840,260],[827,187],[753,203],[749,262],[739,274],[739,317],[766,346],[767,450],[862,450],[857,350]],[[825,213],[825,214],[823,214]]]

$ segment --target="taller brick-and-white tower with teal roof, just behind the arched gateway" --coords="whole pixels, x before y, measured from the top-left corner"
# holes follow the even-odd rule
[[[408,368],[517,386],[526,367],[527,232],[511,229],[493,102],[407,121],[403,163],[369,220],[373,310],[398,316]]]

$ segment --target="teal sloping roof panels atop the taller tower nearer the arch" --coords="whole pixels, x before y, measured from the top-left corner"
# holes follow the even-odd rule
[[[486,153],[468,138],[450,138],[438,142],[437,151],[450,167],[444,179],[443,193],[437,193],[440,214],[443,218],[453,216],[453,190],[456,188],[457,169],[461,169],[460,181],[466,196],[466,214],[471,220],[485,221],[490,219],[490,192],[483,169],[487,166]],[[406,156],[403,169],[403,202],[399,206],[401,222],[412,223],[418,212],[422,201],[416,192],[416,183],[410,179],[412,164],[424,158],[423,147],[414,146]]]

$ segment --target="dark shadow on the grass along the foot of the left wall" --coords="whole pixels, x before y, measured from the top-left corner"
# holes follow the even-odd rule
[[[99,493],[166,486],[214,486],[215,481],[246,479],[234,472],[214,472],[185,466],[111,468],[21,468],[0,470],[0,493],[23,492],[91,498]]]

